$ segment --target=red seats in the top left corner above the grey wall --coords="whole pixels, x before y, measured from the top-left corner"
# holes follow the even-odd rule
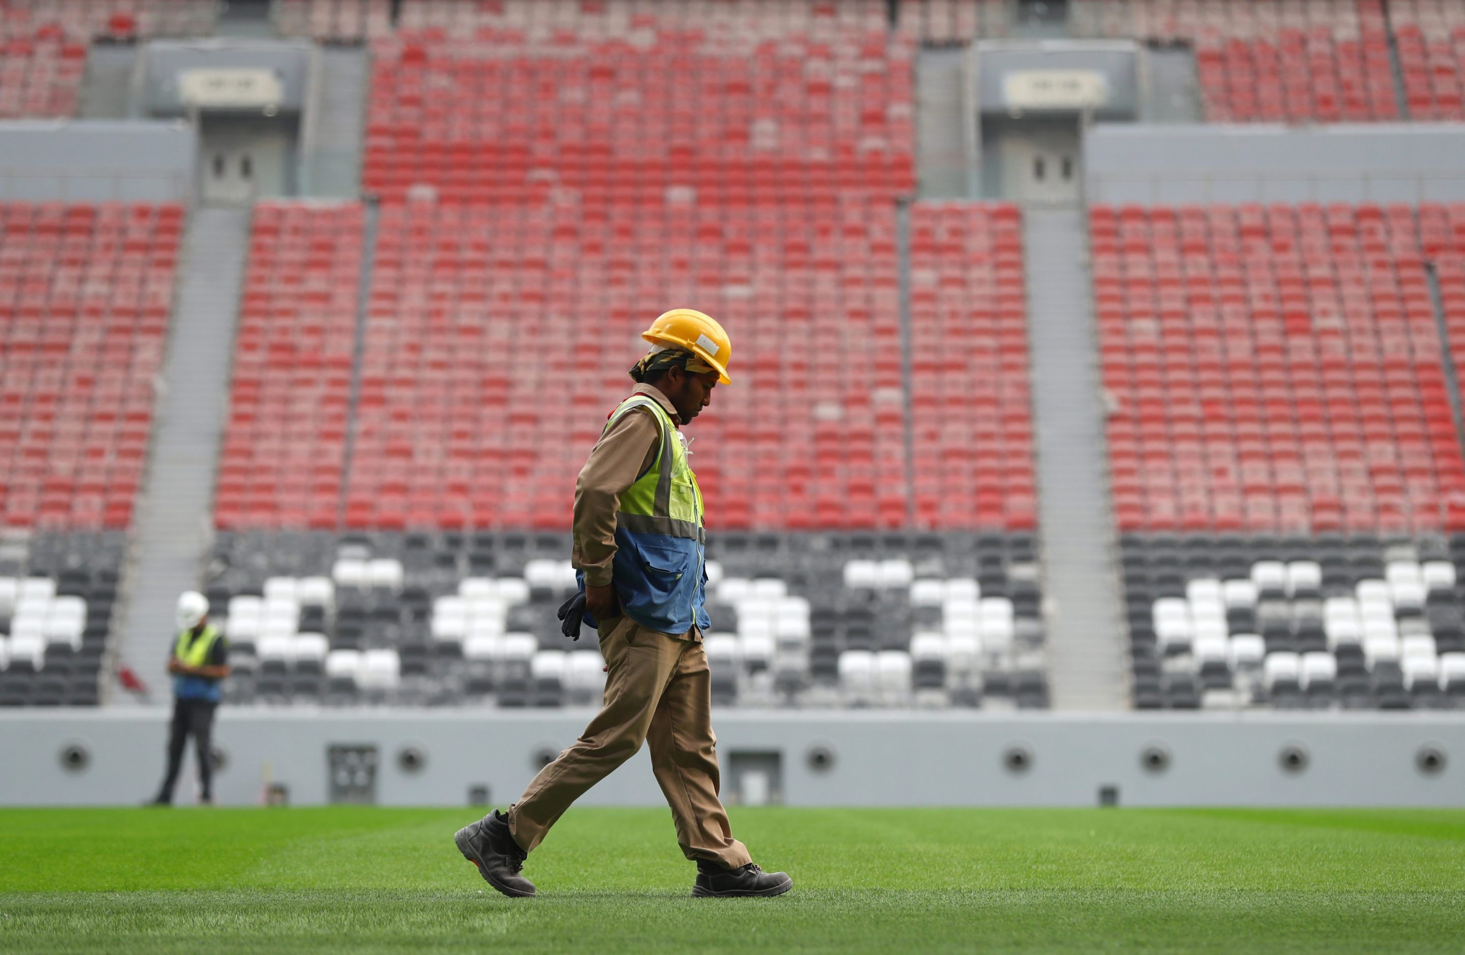
[[[0,3],[0,119],[75,116],[86,44],[212,31],[198,0],[6,0]]]

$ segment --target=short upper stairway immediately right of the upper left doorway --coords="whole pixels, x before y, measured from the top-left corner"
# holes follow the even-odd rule
[[[314,142],[302,195],[355,199],[360,193],[362,138],[366,129],[366,92],[371,86],[366,51],[322,47],[319,79]]]

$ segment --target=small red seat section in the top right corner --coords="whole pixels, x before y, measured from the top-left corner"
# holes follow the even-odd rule
[[[1390,0],[1389,25],[1409,119],[1465,120],[1465,7],[1450,0]]]

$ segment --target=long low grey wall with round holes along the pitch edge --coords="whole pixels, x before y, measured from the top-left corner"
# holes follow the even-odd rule
[[[224,709],[215,738],[229,765],[226,804],[253,804],[265,779],[289,787],[293,804],[327,797],[325,750],[375,744],[378,803],[461,806],[472,785],[498,804],[533,776],[535,754],[568,746],[589,710],[264,710]],[[1124,806],[1465,806],[1465,713],[1080,713],[721,710],[718,753],[779,753],[784,801],[794,806],[1093,806],[1115,787]],[[16,710],[0,713],[0,804],[127,804],[151,794],[163,772],[167,712]],[[84,770],[63,769],[60,750],[81,744]],[[397,766],[403,746],[426,765]],[[828,769],[812,747],[834,753]],[[1163,747],[1169,766],[1141,765]],[[1301,770],[1279,754],[1307,753]],[[1421,747],[1444,756],[1428,773]],[[1026,772],[1004,754],[1024,747]],[[179,795],[192,791],[192,770]],[[662,803],[646,751],[592,789],[586,804]]]

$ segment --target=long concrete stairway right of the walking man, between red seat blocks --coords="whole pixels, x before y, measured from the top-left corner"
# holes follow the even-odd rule
[[[1024,230],[1052,705],[1125,709],[1118,542],[1084,214],[1028,207]]]

